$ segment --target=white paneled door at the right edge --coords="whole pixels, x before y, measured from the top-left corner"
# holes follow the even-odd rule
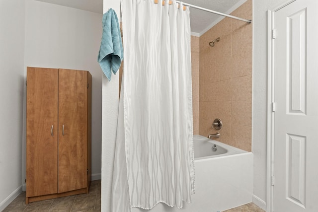
[[[318,212],[318,0],[275,12],[274,212]]]

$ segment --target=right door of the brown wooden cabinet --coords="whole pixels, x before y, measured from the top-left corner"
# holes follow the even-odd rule
[[[87,71],[59,70],[59,193],[87,186]]]

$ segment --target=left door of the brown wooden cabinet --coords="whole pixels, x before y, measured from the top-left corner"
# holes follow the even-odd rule
[[[57,193],[58,70],[27,68],[26,197]]]

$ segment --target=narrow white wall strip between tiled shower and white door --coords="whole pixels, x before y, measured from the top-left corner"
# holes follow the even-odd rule
[[[267,10],[287,0],[253,1],[253,133],[254,199],[266,209],[266,148],[267,148]]]

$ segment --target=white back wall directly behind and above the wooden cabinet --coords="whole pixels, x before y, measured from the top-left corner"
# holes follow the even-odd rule
[[[85,70],[92,74],[92,179],[101,179],[103,73],[97,63],[97,55],[102,33],[102,14],[27,0],[25,17],[25,74],[27,66]],[[22,152],[24,179],[25,136]]]

